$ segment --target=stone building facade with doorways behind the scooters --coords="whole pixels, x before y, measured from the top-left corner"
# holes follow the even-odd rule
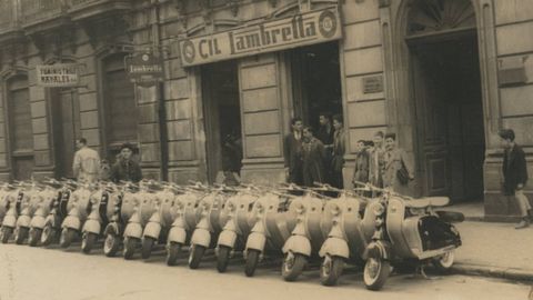
[[[500,192],[500,129],[515,130],[533,174],[530,0],[0,6],[3,180],[70,176],[84,137],[111,161],[134,142],[151,178],[214,181],[230,163],[244,181],[280,182],[291,118],[316,127],[323,111],[344,117],[346,183],[356,142],[376,131],[413,157],[413,194],[484,201],[490,219],[517,211]],[[163,82],[129,80],[124,58],[139,52],[162,58]],[[37,66],[60,62],[80,64],[81,84],[38,86]]]

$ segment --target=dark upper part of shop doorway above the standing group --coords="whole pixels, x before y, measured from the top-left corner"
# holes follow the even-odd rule
[[[319,116],[342,114],[339,43],[326,42],[289,52],[292,72],[294,116],[315,130]]]

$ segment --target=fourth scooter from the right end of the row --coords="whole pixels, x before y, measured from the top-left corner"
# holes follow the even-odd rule
[[[295,196],[270,190],[253,204],[253,226],[247,239],[243,256],[244,273],[252,277],[266,253],[282,256],[281,249],[296,224]]]

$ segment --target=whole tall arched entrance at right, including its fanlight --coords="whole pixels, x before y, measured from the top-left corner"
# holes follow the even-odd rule
[[[481,200],[485,136],[474,7],[470,0],[409,4],[404,39],[422,193]]]

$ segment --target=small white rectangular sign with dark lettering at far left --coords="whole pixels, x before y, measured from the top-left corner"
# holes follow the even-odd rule
[[[77,87],[80,84],[78,63],[38,64],[37,86],[47,88]]]

